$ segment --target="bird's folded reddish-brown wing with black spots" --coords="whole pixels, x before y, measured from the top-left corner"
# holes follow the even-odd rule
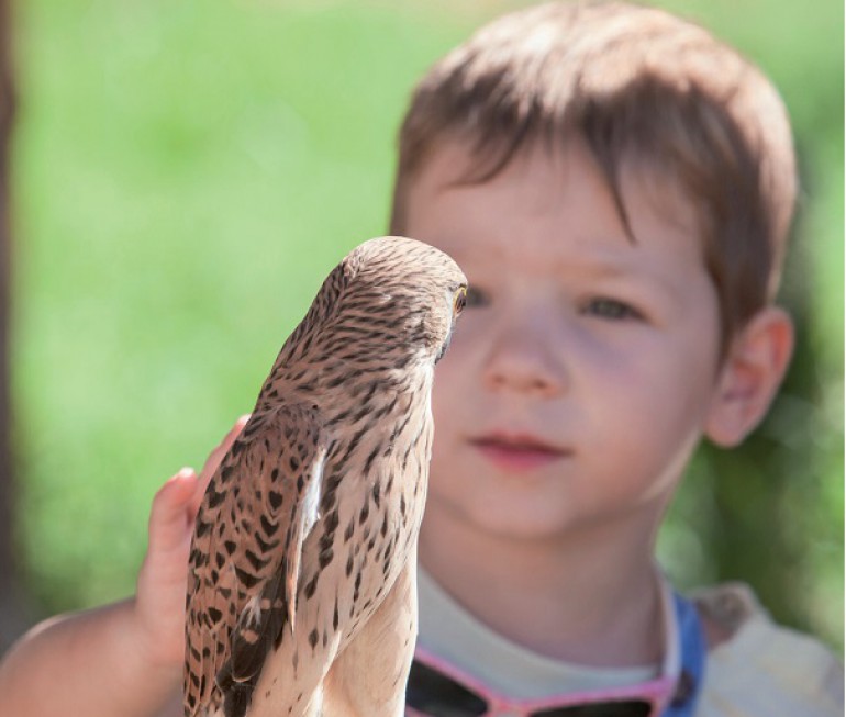
[[[223,696],[248,694],[286,621],[293,629],[325,455],[315,411],[282,405],[254,415],[212,478],[189,558],[187,715],[220,706],[215,681]]]

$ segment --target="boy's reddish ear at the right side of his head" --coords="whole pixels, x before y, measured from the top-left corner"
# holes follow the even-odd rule
[[[793,323],[777,306],[758,312],[732,340],[705,421],[717,446],[739,444],[767,413],[793,352]]]

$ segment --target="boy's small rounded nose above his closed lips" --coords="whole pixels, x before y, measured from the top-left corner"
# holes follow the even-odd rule
[[[541,324],[492,332],[483,370],[487,388],[539,399],[559,395],[567,377],[553,343],[549,327]]]

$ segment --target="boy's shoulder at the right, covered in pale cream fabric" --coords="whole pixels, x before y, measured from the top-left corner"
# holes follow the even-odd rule
[[[777,625],[743,583],[691,597],[711,645],[697,717],[843,715],[843,664],[821,641]]]

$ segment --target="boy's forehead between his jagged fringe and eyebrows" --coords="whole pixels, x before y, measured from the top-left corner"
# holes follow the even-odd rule
[[[447,224],[442,229],[448,236],[448,225],[454,224],[455,238],[460,239],[464,222],[520,228],[526,221],[537,221],[550,224],[552,236],[558,229],[586,235],[600,232],[636,245],[648,240],[648,235],[638,238],[638,225],[647,221],[669,224],[701,242],[697,206],[675,178],[634,158],[625,160],[619,176],[620,208],[609,181],[578,137],[559,147],[536,144],[517,153],[493,177],[478,180],[482,161],[457,142],[438,147],[407,187],[411,225]],[[561,226],[556,227],[556,222]]]

